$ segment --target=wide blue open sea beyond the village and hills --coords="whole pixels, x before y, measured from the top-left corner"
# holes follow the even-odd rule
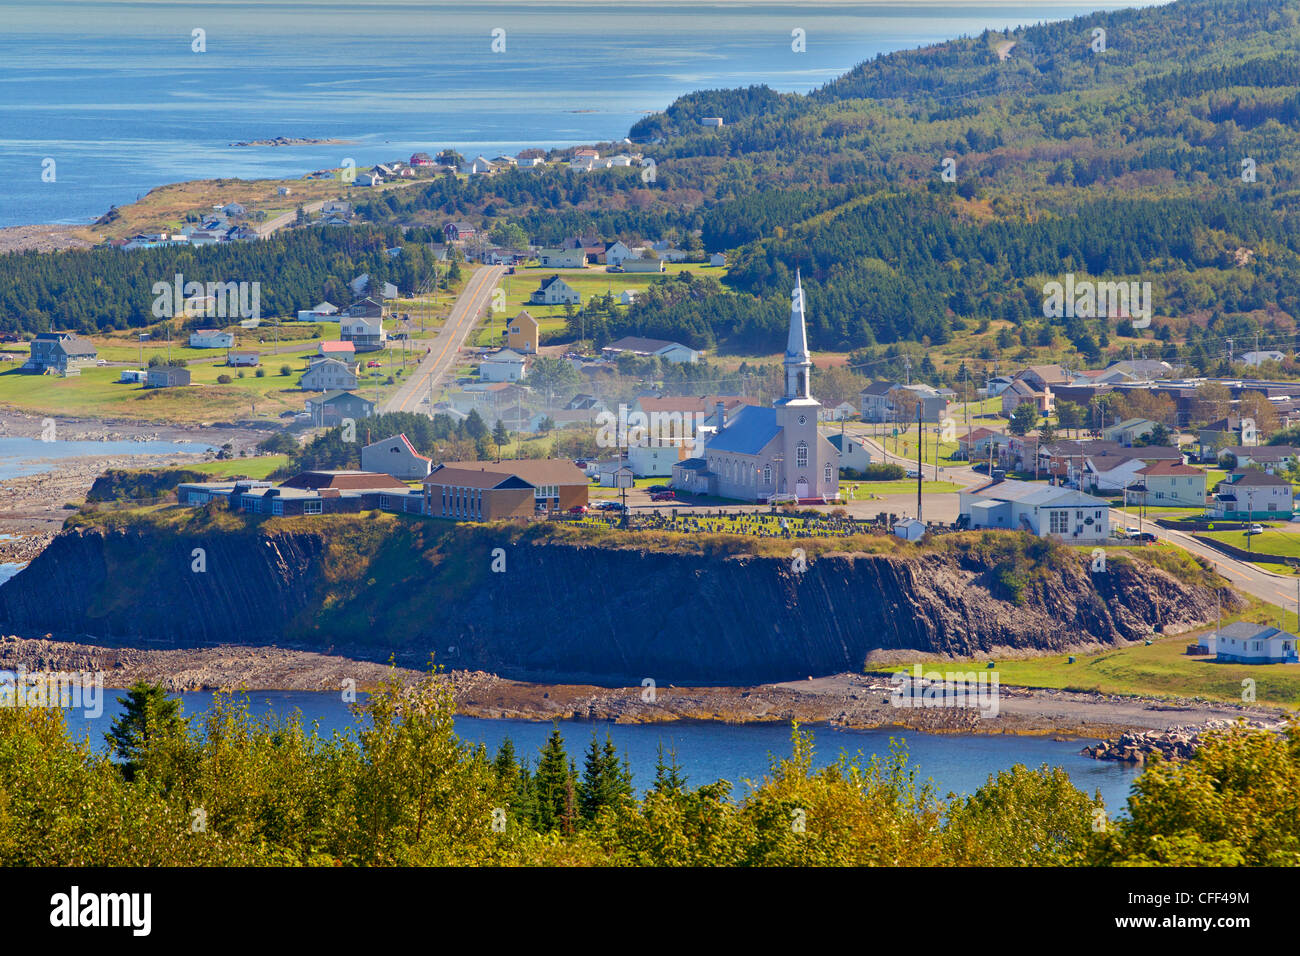
[[[620,139],[692,90],[809,91],[881,52],[1130,5],[0,0],[0,226],[84,222],[182,179]],[[276,135],[355,144],[229,146]]]

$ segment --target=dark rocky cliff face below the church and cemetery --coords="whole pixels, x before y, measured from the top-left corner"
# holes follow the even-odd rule
[[[1141,562],[1091,574],[1071,555],[1019,583],[1013,601],[997,568],[954,549],[831,554],[796,571],[789,559],[529,544],[490,529],[404,524],[355,537],[343,527],[65,531],[0,588],[0,622],[29,635],[276,643],[416,666],[433,653],[524,680],[664,685],[857,671],[874,650],[1060,652],[1214,614],[1210,587]]]

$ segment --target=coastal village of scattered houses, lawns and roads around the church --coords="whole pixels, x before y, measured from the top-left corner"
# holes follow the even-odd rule
[[[309,174],[316,186],[342,177],[346,191],[296,215],[282,211],[295,187],[280,186],[276,208],[226,203],[178,230],[107,245],[126,255],[358,228],[367,193],[430,177],[629,166],[654,176],[640,153],[594,147],[493,160],[421,152]],[[690,339],[581,334],[589,316],[628,315],[656,284],[725,278],[728,252],[706,250],[698,234],[503,238],[482,220],[443,220],[424,245],[436,263],[430,281],[412,287],[395,268],[359,272],[278,315],[248,310],[246,290],[231,284],[185,287],[182,298],[177,276],[183,306],[129,339],[57,328],[5,336],[0,362],[14,376],[40,376],[47,390],[92,380],[176,408],[221,395],[204,406],[209,416],[229,407],[231,389],[244,389],[239,418],[261,433],[270,427],[299,446],[356,436],[347,438],[355,467],[269,476],[244,447],[222,451],[212,480],[172,492],[173,506],[217,502],[254,522],[387,512],[793,545],[867,533],[901,548],[1002,531],[1082,549],[1093,562],[1134,548],[1187,548],[1214,566],[1248,568],[1257,584],[1271,572],[1256,568],[1300,568],[1300,450],[1283,441],[1300,424],[1300,386],[1251,376],[1275,368],[1280,354],[1243,354],[1240,375],[1217,377],[1132,355],[1091,368],[991,362],[979,378],[963,363],[946,381],[905,358],[897,377],[862,368],[832,380],[809,349],[796,269],[780,364],[754,356],[737,367]],[[385,254],[399,265],[404,248]],[[826,381],[832,390],[819,395]],[[465,457],[473,445],[462,442],[462,457],[448,457],[372,427],[406,411],[481,429],[477,454]],[[485,453],[489,436],[495,455]],[[1270,584],[1256,593],[1283,602]],[[1295,635],[1277,623],[1234,615],[1187,643],[1184,657],[1300,662]]]

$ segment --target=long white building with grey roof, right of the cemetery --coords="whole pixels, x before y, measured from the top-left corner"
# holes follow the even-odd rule
[[[1001,480],[961,492],[959,501],[968,528],[1028,531],[1076,545],[1110,537],[1110,503],[1069,488]]]

